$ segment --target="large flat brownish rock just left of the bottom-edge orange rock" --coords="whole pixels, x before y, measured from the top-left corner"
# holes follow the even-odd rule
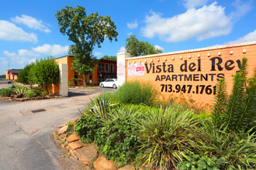
[[[97,150],[94,148],[79,148],[75,150],[78,160],[83,162],[85,165],[91,165],[93,160],[97,156]]]

